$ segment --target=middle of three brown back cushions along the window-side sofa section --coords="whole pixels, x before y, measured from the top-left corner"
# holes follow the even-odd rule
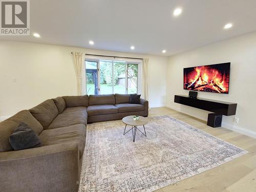
[[[115,95],[90,95],[89,105],[116,104]]]

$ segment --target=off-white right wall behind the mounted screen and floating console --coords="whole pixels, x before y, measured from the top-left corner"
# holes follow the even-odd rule
[[[199,97],[238,103],[236,117],[224,117],[223,126],[256,136],[256,33],[249,33],[169,57],[166,104],[180,112],[206,120],[208,112],[174,103],[183,90],[183,68],[231,62],[229,94],[198,92]]]

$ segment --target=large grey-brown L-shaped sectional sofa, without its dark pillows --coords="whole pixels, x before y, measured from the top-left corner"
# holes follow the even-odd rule
[[[57,97],[0,122],[1,191],[77,191],[87,123],[148,115],[148,101],[130,104],[129,96]],[[21,122],[42,146],[13,151],[9,136]]]

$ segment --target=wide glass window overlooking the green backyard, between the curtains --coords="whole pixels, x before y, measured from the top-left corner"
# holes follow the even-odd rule
[[[86,60],[87,94],[137,93],[138,69],[138,63]]]

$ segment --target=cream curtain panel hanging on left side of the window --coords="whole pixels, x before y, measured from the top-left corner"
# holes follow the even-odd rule
[[[77,77],[77,92],[78,95],[82,95],[82,69],[83,69],[83,53],[73,52],[74,66]]]

